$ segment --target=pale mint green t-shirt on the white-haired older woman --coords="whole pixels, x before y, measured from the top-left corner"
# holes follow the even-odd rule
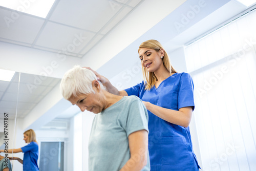
[[[131,157],[128,136],[140,130],[148,132],[147,121],[147,110],[136,96],[124,96],[97,114],[89,139],[89,170],[120,170]],[[142,170],[150,170],[148,152]]]

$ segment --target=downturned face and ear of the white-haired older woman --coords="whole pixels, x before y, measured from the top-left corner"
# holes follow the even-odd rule
[[[106,102],[104,98],[102,98],[102,94],[98,89],[99,87],[100,86],[96,81],[96,84],[93,84],[95,94],[78,94],[77,97],[72,95],[68,100],[73,105],[76,104],[82,112],[87,110],[95,114],[100,113],[102,110],[104,110]]]

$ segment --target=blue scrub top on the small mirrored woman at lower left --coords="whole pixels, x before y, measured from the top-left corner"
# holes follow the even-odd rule
[[[37,165],[38,159],[38,144],[34,141],[22,147],[24,153],[23,157],[23,171],[39,171]]]

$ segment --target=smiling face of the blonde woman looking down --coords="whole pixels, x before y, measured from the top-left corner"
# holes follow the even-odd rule
[[[141,48],[139,50],[139,58],[141,60],[142,67],[148,72],[157,71],[162,64],[161,52],[157,52],[154,49]]]

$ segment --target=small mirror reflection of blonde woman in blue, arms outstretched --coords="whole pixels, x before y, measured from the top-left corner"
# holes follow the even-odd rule
[[[9,157],[11,160],[17,160],[23,164],[23,171],[39,171],[37,160],[38,160],[38,144],[36,142],[36,135],[34,130],[27,130],[24,133],[24,141],[29,143],[28,145],[16,148],[16,149],[0,149],[0,152],[5,153],[24,153],[23,160],[18,157]]]

